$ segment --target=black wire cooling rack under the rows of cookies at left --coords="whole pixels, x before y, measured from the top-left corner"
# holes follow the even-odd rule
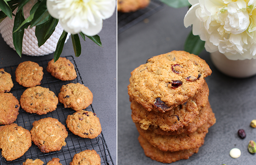
[[[69,83],[80,83],[83,84],[82,77],[78,71],[77,65],[75,63],[75,60],[73,56],[66,56],[65,58],[69,59],[71,63],[74,64],[75,70],[77,72],[77,78],[72,81],[61,81],[57,78],[54,78],[51,76],[50,73],[46,72],[46,67],[48,65],[48,62],[51,60],[41,60],[36,61],[40,66],[43,67],[43,79],[40,86],[49,88],[50,91],[53,91],[56,95],[60,92],[60,88],[62,85],[66,85]],[[14,86],[11,89],[11,93],[19,100],[22,93],[25,91],[25,87],[22,87],[15,81],[15,70],[17,66],[8,66],[3,67],[4,70],[11,74]],[[86,86],[86,84],[85,84]],[[88,108],[86,108],[87,111],[93,111],[92,105],[90,105]],[[20,108],[19,115],[17,117],[17,120],[15,123],[17,123],[19,126],[22,126],[25,129],[28,129],[29,131],[32,129],[32,123],[36,120],[40,120],[42,118],[46,117],[52,117],[58,119],[65,127],[67,128],[66,119],[67,116],[70,114],[73,114],[75,111],[70,108],[64,108],[63,104],[58,103],[57,109],[48,112],[45,115],[37,115],[37,114],[31,114],[27,113],[26,111],[22,110]],[[96,113],[97,114],[97,113]],[[45,164],[50,161],[52,158],[59,158],[60,163],[62,165],[69,165],[72,161],[74,155],[76,153],[79,153],[84,150],[95,150],[99,155],[101,159],[101,164],[104,165],[114,165],[113,159],[111,157],[111,154],[109,152],[109,148],[107,147],[107,143],[104,139],[103,133],[96,137],[95,139],[88,139],[88,138],[82,138],[77,135],[74,135],[72,132],[70,132],[68,129],[68,137],[65,139],[65,142],[67,143],[66,146],[63,146],[60,151],[54,151],[50,153],[42,153],[39,148],[33,144],[29,148],[29,150],[20,158],[15,159],[14,161],[6,161],[4,157],[1,157],[0,154],[0,165],[22,165],[22,162],[25,162],[26,159],[41,159]]]

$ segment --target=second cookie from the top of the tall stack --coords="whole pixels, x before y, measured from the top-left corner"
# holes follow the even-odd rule
[[[151,126],[159,127],[164,131],[176,131],[183,126],[188,126],[196,118],[201,108],[206,106],[208,96],[209,88],[205,83],[193,98],[165,113],[154,110],[147,111],[141,104],[132,100],[132,120],[139,122],[141,128],[145,130]]]

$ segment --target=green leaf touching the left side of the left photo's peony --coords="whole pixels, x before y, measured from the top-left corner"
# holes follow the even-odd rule
[[[31,21],[30,28],[39,25],[40,22],[43,21],[47,16],[49,16],[49,12],[47,11],[46,0],[43,0],[40,2],[38,8],[35,11],[35,15]]]

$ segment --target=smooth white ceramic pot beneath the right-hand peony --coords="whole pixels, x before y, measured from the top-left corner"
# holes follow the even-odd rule
[[[256,75],[256,59],[230,60],[220,52],[210,53],[213,64],[220,72],[235,78]]]

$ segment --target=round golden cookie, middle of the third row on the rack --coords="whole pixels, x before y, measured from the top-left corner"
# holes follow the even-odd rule
[[[33,122],[31,139],[41,152],[59,151],[66,145],[65,138],[68,132],[56,118],[42,118]]]

